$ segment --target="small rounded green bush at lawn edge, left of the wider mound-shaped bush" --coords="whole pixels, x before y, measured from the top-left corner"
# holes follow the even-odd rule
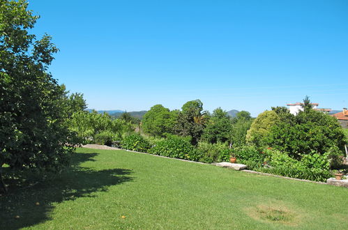
[[[142,135],[132,134],[123,138],[121,141],[123,149],[147,153],[151,148],[149,141],[147,141]]]

